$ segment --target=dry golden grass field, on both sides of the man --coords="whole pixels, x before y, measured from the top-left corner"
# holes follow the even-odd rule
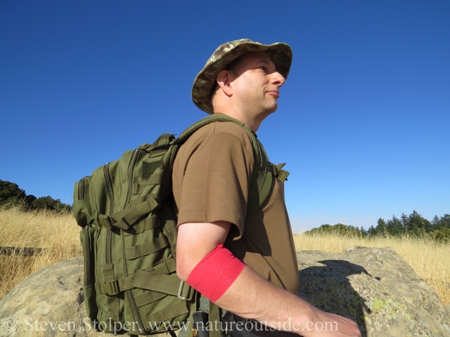
[[[24,212],[0,208],[0,246],[44,249],[37,256],[0,256],[0,298],[42,267],[80,255],[79,227],[70,213]],[[295,234],[303,250],[338,253],[350,246],[391,246],[450,305],[450,244],[409,237],[361,239],[336,234]]]

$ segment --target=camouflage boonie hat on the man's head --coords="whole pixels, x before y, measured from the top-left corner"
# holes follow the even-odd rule
[[[276,67],[276,70],[288,78],[290,64],[293,60],[293,51],[288,44],[259,44],[250,39],[240,39],[222,44],[214,51],[205,67],[195,77],[192,86],[192,100],[201,110],[212,114],[211,95],[216,77],[231,62],[247,53],[265,51]]]

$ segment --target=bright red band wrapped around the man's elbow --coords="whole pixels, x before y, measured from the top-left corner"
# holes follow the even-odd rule
[[[215,302],[236,281],[244,267],[242,261],[233,256],[223,244],[219,244],[195,266],[187,282]]]

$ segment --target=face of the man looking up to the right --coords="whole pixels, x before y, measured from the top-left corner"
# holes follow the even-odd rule
[[[257,116],[277,109],[285,78],[264,51],[241,56],[230,72],[233,95],[243,111]]]

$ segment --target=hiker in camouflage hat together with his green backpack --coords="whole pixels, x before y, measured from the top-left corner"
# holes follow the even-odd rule
[[[295,295],[288,172],[271,164],[255,134],[276,111],[291,60],[282,43],[219,46],[192,89],[195,105],[212,116],[178,138],[164,133],[128,150],[75,183],[83,296],[94,329],[160,337],[361,336],[352,320]]]

